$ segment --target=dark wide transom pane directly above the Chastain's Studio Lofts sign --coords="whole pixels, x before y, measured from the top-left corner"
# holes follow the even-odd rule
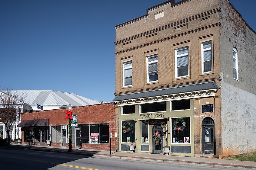
[[[141,113],[166,111],[166,102],[141,104]]]

